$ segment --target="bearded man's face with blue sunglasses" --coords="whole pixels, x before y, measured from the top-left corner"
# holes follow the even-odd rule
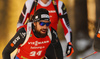
[[[34,23],[36,32],[43,36],[46,36],[49,25],[50,22],[47,20],[40,20],[39,22]]]

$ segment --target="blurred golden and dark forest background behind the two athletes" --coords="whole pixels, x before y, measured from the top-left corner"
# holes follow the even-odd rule
[[[14,36],[17,21],[26,0],[0,0],[0,59],[8,41]],[[93,39],[100,20],[100,0],[61,0],[67,8],[70,26],[73,34],[74,54],[69,59],[78,59],[92,53]],[[58,24],[58,36],[66,50],[61,23]],[[100,54],[97,58],[99,59]],[[68,59],[68,58],[65,58]],[[88,58],[87,58],[88,59]],[[92,58],[90,58],[92,59]]]

